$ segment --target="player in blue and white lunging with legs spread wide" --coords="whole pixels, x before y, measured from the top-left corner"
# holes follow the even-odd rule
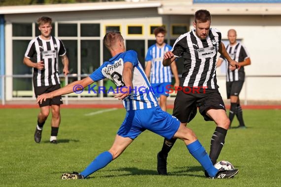
[[[238,173],[237,169],[226,171],[214,168],[206,150],[197,140],[194,132],[184,125],[180,125],[175,117],[161,110],[155,95],[148,92],[150,84],[138,61],[137,53],[125,50],[124,39],[120,32],[107,32],[104,44],[112,56],[108,62],[104,62],[83,80],[72,82],[64,88],[37,97],[37,102],[40,103],[47,98],[72,93],[75,85],[86,87],[105,78],[114,81],[116,86],[120,87],[118,94],[114,94],[114,97],[123,101],[127,113],[112,147],[97,156],[82,172],[65,173],[62,175],[62,179],[84,179],[105,167],[113,159],[120,156],[145,129],[166,138],[182,139],[190,154],[200,162],[212,178],[230,178]],[[143,88],[141,91],[135,89],[131,92],[132,88],[140,87]]]

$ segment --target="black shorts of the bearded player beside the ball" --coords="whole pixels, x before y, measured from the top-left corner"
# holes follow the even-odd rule
[[[196,116],[197,107],[205,121],[213,121],[206,114],[209,109],[225,110],[224,102],[218,90],[205,94],[184,94],[184,92],[178,91],[173,116],[181,123],[189,123]]]

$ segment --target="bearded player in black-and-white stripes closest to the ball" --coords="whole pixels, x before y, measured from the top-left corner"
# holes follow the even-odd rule
[[[177,89],[173,116],[187,125],[196,115],[197,107],[206,121],[217,125],[211,137],[210,158],[213,164],[224,144],[230,121],[216,84],[216,56],[222,54],[232,66],[240,68],[232,60],[221,42],[221,33],[211,27],[208,10],[195,13],[194,29],[176,39],[173,49],[164,55],[163,65],[170,65],[176,58],[184,59],[184,70]],[[176,139],[165,139],[157,155],[157,171],[167,175],[167,156]],[[206,173],[207,176],[207,173]]]

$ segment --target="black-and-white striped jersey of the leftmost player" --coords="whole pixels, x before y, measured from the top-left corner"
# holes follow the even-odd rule
[[[34,68],[33,83],[35,87],[60,84],[59,56],[66,54],[63,42],[51,36],[50,40],[43,40],[40,36],[31,40],[25,57],[32,62],[44,62],[44,69]]]

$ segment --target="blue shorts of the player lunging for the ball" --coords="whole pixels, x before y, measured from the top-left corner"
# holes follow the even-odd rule
[[[144,130],[171,139],[179,128],[176,117],[161,110],[159,106],[141,110],[127,111],[117,134],[122,137],[137,138]]]

